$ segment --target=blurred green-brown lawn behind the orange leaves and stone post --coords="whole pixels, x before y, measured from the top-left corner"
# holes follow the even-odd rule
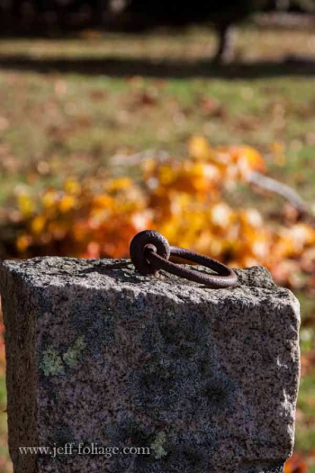
[[[0,205],[16,186],[31,184],[35,192],[60,186],[67,175],[108,167],[117,153],[184,156],[195,133],[215,145],[257,147],[272,176],[314,202],[315,75],[310,66],[303,74],[302,67],[279,62],[290,54],[311,57],[314,44],[315,32],[245,28],[238,39],[245,67],[217,69],[207,30],[1,41]],[[275,142],[284,144],[285,162],[273,152]],[[264,199],[256,204],[266,206]],[[315,303],[300,296],[307,353],[314,348]],[[302,451],[315,445],[314,384],[314,373],[302,379]]]

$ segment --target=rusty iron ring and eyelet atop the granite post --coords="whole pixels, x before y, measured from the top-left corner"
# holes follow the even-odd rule
[[[218,274],[205,274],[194,269],[169,261],[171,256],[193,261],[206,268],[213,269]],[[203,256],[194,251],[169,246],[166,238],[158,232],[145,230],[139,232],[130,243],[130,259],[140,274],[157,276],[158,270],[163,269],[175,276],[184,277],[213,289],[233,287],[238,282],[235,272],[216,259]]]

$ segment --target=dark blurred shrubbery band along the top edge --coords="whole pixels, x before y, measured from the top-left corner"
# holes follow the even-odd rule
[[[16,26],[45,23],[60,27],[105,25],[146,29],[155,25],[211,22],[218,30],[260,10],[313,12],[315,0],[0,0],[0,14]],[[117,17],[117,11],[120,14]],[[117,21],[118,18],[118,21]],[[1,17],[0,17],[1,20]]]

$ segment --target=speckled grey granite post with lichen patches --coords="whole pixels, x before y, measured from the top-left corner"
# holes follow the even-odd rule
[[[213,290],[142,277],[129,260],[5,261],[14,472],[282,473],[299,304],[266,269],[237,273],[238,287]],[[70,443],[56,457],[19,452]],[[79,454],[80,443],[150,454],[106,459]]]

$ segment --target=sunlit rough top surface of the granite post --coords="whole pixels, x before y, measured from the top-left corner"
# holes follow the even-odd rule
[[[203,272],[211,270],[187,265]],[[222,297],[254,299],[276,298],[277,303],[290,301],[298,305],[293,293],[277,287],[270,272],[260,266],[235,269],[238,285],[227,289],[211,289],[200,284],[160,271],[159,277],[142,276],[135,270],[130,259],[77,259],[67,257],[37,257],[20,260],[4,260],[0,265],[0,288],[5,274],[22,278],[31,287],[50,286],[85,287],[99,290],[131,291],[135,294],[145,291],[151,294],[165,294],[179,300],[187,297],[198,300],[210,299],[212,302]]]

